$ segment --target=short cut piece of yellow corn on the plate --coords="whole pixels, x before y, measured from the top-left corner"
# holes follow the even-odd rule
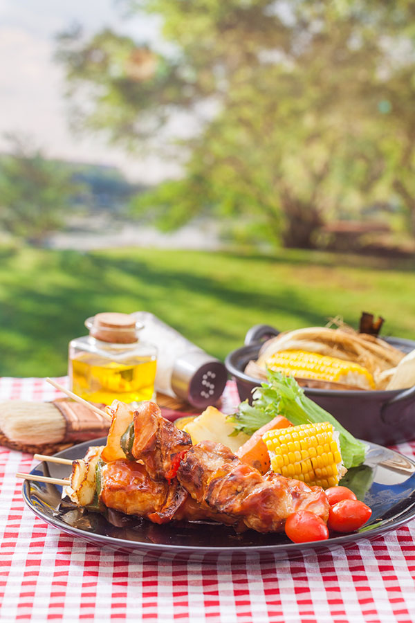
[[[273,471],[324,489],[338,485],[344,468],[329,422],[268,431],[262,439]]]

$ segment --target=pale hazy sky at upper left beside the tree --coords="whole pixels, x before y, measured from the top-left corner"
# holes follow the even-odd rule
[[[79,22],[93,33],[110,26],[142,42],[156,41],[159,24],[148,16],[122,19],[116,0],[0,0],[0,150],[5,132],[33,139],[46,156],[116,165],[129,179],[156,183],[178,165],[136,159],[109,148],[99,136],[73,136],[64,100],[64,73],[53,62],[55,35]]]

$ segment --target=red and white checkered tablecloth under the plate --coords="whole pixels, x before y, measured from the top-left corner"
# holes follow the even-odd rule
[[[57,395],[44,379],[0,379],[0,399]],[[235,395],[229,383],[228,405]],[[413,457],[415,443],[398,450]],[[415,621],[415,521],[375,541],[293,561],[156,560],[96,548],[37,518],[15,478],[33,464],[31,455],[0,446],[1,623]]]

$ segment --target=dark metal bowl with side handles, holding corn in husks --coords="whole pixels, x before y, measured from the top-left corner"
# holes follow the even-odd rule
[[[278,334],[279,331],[270,325],[255,325],[246,334],[245,346],[226,357],[225,366],[237,381],[241,400],[250,401],[252,390],[261,385],[259,379],[243,372],[246,364],[257,359],[266,339]],[[383,339],[405,353],[415,349],[415,341],[396,337]],[[415,439],[415,386],[389,391],[304,388],[304,392],[355,437],[382,445]]]

